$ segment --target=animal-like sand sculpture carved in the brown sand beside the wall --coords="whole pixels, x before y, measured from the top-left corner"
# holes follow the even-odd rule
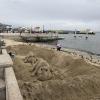
[[[52,78],[52,69],[47,61],[36,57],[32,52],[25,57],[24,62],[32,65],[32,75],[36,75],[38,80],[45,81]]]

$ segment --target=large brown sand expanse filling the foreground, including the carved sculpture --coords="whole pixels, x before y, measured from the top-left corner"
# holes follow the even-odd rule
[[[100,99],[100,67],[37,46],[7,49],[16,52],[13,67],[24,100]]]

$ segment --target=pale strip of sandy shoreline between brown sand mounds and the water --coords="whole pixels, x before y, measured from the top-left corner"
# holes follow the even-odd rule
[[[54,49],[56,50],[56,46],[44,44],[44,43],[25,43],[25,42],[18,42],[11,39],[4,39],[6,42],[6,46],[13,46],[13,45],[35,45],[39,47],[45,47],[47,49]],[[86,52],[83,50],[76,50],[76,49],[70,49],[70,48],[62,48],[61,53],[69,54],[73,57],[78,57],[80,59],[85,60],[87,63],[90,63],[95,66],[100,66],[100,56],[93,54],[91,52]]]

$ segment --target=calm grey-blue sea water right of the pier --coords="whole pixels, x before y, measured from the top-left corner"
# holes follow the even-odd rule
[[[63,40],[59,40],[58,43],[64,48],[76,49],[81,51],[86,51],[100,55],[100,33],[95,35],[76,35],[74,34],[60,34],[60,37],[63,37]]]

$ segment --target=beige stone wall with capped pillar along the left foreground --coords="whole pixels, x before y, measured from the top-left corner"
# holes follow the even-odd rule
[[[7,54],[6,49],[2,49],[0,55],[0,100],[23,100],[12,65],[11,57]]]

